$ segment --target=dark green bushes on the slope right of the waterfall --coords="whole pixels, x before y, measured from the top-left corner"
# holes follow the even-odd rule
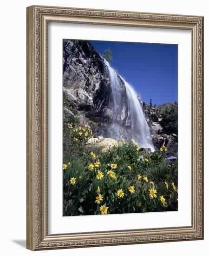
[[[178,134],[178,105],[166,104],[157,108],[157,112],[162,116],[161,125],[164,132]]]

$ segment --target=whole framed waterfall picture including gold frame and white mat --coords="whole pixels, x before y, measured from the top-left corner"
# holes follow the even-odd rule
[[[27,7],[27,248],[203,239],[203,17]]]

